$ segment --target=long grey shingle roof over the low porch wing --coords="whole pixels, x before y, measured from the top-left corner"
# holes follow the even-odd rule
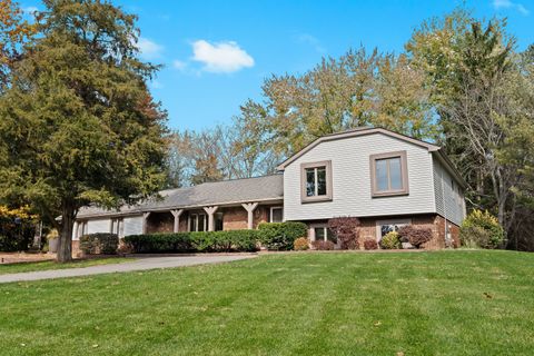
[[[122,206],[117,210],[85,207],[78,217],[122,215],[174,208],[204,207],[210,205],[240,204],[284,198],[284,176],[271,175],[256,178],[205,182],[194,187],[168,189],[159,192],[162,199],[151,198],[136,206]]]

